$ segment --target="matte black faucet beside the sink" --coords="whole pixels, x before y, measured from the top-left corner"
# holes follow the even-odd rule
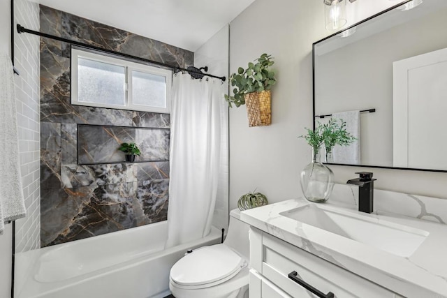
[[[371,213],[374,202],[374,180],[372,172],[356,172],[360,178],[348,180],[347,184],[358,186],[358,211]]]

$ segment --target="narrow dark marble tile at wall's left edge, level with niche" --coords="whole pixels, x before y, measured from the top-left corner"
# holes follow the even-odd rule
[[[61,124],[41,123],[41,187],[60,185]]]

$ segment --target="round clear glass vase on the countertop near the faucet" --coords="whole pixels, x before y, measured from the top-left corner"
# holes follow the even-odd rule
[[[301,172],[302,193],[310,202],[326,202],[334,188],[334,173],[320,161],[320,150],[312,150],[312,162]]]

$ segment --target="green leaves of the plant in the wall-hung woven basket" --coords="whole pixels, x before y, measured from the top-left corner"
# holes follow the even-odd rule
[[[277,82],[274,78],[274,70],[270,68],[274,64],[273,57],[268,54],[262,54],[261,57],[249,62],[248,68],[237,68],[237,73],[230,75],[230,84],[235,87],[233,96],[225,95],[228,105],[240,107],[245,104],[245,94],[251,92],[262,92],[272,89]]]

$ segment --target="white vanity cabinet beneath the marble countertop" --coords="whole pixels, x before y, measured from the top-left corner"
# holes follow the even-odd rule
[[[400,297],[380,285],[253,227],[250,228],[250,266],[250,298]],[[321,292],[320,296],[306,290],[305,284]]]

